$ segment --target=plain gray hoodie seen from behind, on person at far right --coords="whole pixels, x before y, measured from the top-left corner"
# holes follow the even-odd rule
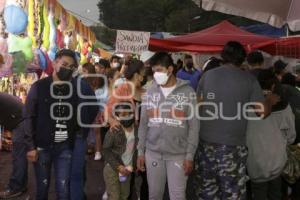
[[[272,112],[266,119],[249,121],[247,169],[250,179],[267,182],[280,176],[287,161],[287,145],[295,138],[295,119],[290,106]]]

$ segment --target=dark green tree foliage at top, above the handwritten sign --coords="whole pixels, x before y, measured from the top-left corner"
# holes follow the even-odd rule
[[[191,0],[102,0],[98,7],[100,20],[112,29],[151,32],[187,31],[201,12]]]

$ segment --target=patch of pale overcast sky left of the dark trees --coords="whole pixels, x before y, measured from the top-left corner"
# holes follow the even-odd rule
[[[87,26],[99,23],[99,0],[58,0],[71,14],[82,20]]]

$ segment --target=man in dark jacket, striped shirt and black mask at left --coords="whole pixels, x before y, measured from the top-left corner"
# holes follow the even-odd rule
[[[36,198],[48,199],[51,168],[54,167],[56,199],[70,199],[72,148],[79,130],[75,53],[63,49],[53,62],[52,76],[34,83],[25,104],[27,159],[34,163]]]

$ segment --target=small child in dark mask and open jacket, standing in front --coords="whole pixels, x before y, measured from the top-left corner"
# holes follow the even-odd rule
[[[134,126],[133,106],[119,103],[113,114],[121,128],[110,130],[104,139],[104,181],[109,200],[127,200],[136,161],[137,128]]]

